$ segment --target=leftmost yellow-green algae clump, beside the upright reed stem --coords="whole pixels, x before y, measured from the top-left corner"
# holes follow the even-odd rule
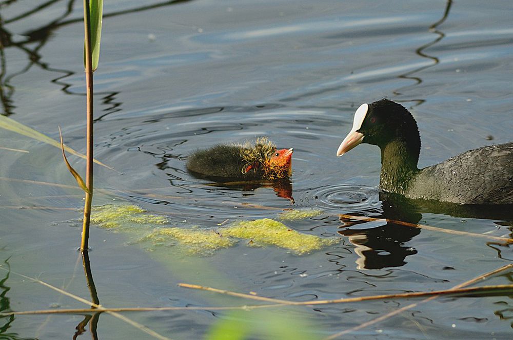
[[[166,224],[167,218],[149,214],[133,204],[106,204],[92,208],[91,223],[102,228],[119,228],[133,224]]]

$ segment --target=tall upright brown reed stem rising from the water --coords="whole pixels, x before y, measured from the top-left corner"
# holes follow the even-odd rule
[[[86,163],[86,193],[84,204],[84,224],[82,226],[82,243],[80,250],[87,250],[89,243],[89,221],[91,219],[91,204],[93,200],[93,69],[91,51],[91,13],[89,0],[84,0],[84,37],[86,56],[86,97],[87,97],[87,163]]]

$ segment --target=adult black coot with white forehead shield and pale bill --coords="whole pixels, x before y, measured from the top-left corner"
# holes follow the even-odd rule
[[[419,169],[417,122],[402,105],[382,99],[358,108],[337,156],[360,143],[380,147],[380,188],[386,192],[459,204],[513,203],[513,142],[480,147]]]

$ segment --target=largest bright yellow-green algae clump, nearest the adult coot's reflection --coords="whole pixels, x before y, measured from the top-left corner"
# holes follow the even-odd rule
[[[224,228],[223,235],[247,239],[248,245],[251,246],[275,245],[298,254],[321,249],[340,241],[338,238],[320,238],[303,234],[271,219],[237,222]]]

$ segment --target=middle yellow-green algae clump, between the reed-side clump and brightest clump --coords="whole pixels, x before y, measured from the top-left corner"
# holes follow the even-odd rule
[[[214,250],[233,246],[236,241],[223,237],[214,230],[186,229],[186,228],[156,228],[145,237],[154,245],[170,245],[170,240],[175,240],[187,248],[191,254],[205,255]]]

